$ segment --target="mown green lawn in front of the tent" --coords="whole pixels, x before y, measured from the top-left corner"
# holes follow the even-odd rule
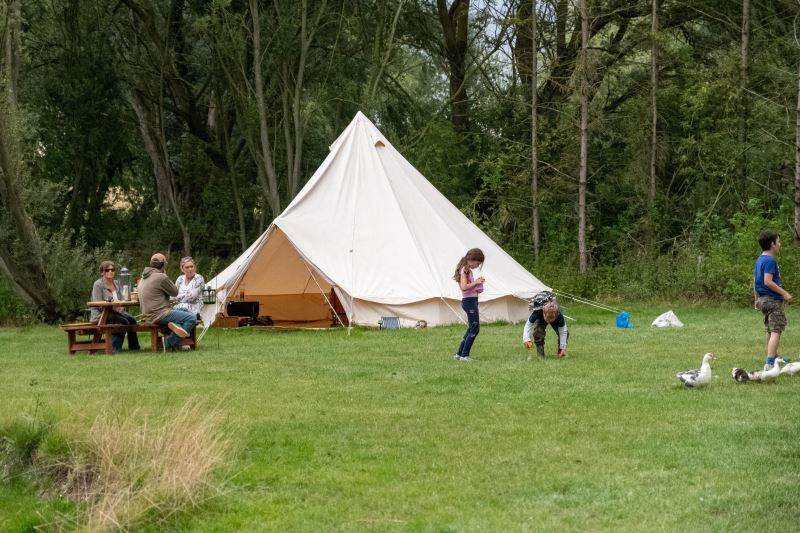
[[[0,421],[37,398],[62,418],[219,402],[222,490],[153,530],[798,530],[800,376],[731,379],[763,364],[756,311],[679,306],[686,327],[650,328],[666,309],[617,330],[572,307],[568,358],[551,330],[544,362],[516,325],[484,327],[470,364],[452,359],[460,327],[212,330],[195,353],[72,357],[57,328],[0,329]],[[705,351],[714,381],[684,390],[674,372]],[[0,486],[2,531],[70,509]]]

